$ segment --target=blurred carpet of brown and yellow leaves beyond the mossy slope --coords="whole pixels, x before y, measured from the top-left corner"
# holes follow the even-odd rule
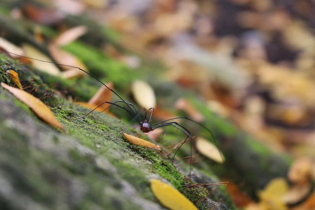
[[[306,158],[302,163],[315,176],[314,0],[2,3],[11,18],[58,32],[92,18],[104,26],[95,31],[106,38],[89,30],[86,42],[135,71],[158,62],[163,68],[148,70],[147,77],[159,71],[164,80],[193,91],[213,112],[275,152]],[[39,27],[29,30],[37,43],[51,35]]]

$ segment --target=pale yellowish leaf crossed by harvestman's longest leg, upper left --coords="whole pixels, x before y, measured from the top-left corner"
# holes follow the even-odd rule
[[[42,61],[53,62],[48,58],[48,56],[44,55],[42,52],[32,47],[30,44],[23,44],[23,49],[25,51],[25,56],[27,57],[36,58]],[[60,70],[57,68],[55,64],[52,63],[32,60],[32,66],[38,70],[45,71],[52,75],[60,75]]]

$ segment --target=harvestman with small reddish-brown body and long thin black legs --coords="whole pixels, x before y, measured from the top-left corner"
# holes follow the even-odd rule
[[[5,50],[3,50],[5,51]],[[71,68],[75,68],[75,69],[78,69],[78,70],[81,70],[81,71],[84,71],[85,73],[89,74],[90,76],[92,76],[93,78],[95,78],[98,82],[100,82],[102,85],[104,85],[108,90],[110,90],[111,92],[113,92],[116,96],[118,96],[120,98],[119,101],[116,101],[116,102],[103,102],[101,103],[100,105],[98,105],[97,107],[95,107],[92,111],[88,112],[86,115],[84,115],[83,117],[86,117],[87,115],[89,115],[91,112],[93,112],[96,108],[98,108],[99,106],[103,105],[103,104],[110,104],[110,105],[115,105],[117,107],[120,107],[122,109],[125,109],[139,124],[140,126],[140,130],[143,132],[143,133],[148,133],[150,131],[153,131],[157,128],[160,128],[160,127],[164,127],[164,126],[173,126],[177,129],[179,129],[181,132],[183,132],[185,135],[187,135],[186,139],[181,143],[181,145],[179,146],[179,148],[176,150],[174,156],[173,156],[173,159],[172,159],[172,163],[174,163],[174,158],[175,158],[175,155],[176,153],[178,152],[178,150],[182,147],[182,145],[187,141],[187,139],[190,140],[190,162],[191,162],[191,159],[192,159],[192,148],[191,148],[191,144],[192,144],[192,136],[191,136],[191,133],[190,131],[185,128],[184,126],[180,125],[178,122],[174,121],[176,119],[186,119],[186,120],[189,120],[191,122],[194,122],[196,124],[198,124],[199,126],[203,127],[204,129],[206,129],[210,134],[211,134],[211,137],[212,139],[215,141],[215,144],[216,146],[218,147],[218,143],[217,141],[215,140],[214,138],[214,135],[213,133],[211,132],[210,129],[208,129],[207,127],[205,127],[204,125],[202,125],[201,123],[199,122],[196,122],[192,119],[189,119],[188,117],[175,117],[175,118],[171,118],[171,119],[168,119],[168,120],[163,120],[163,121],[160,121],[160,122],[157,122],[155,124],[150,124],[151,122],[151,119],[152,119],[152,116],[153,116],[153,111],[154,111],[154,107],[152,108],[149,108],[148,110],[145,110],[145,117],[144,117],[144,121],[142,122],[141,119],[140,119],[140,116],[139,116],[139,112],[137,111],[137,109],[135,108],[135,106],[129,102],[126,102],[122,97],[120,97],[113,89],[111,89],[110,87],[108,87],[107,85],[105,85],[102,81],[100,81],[99,79],[97,79],[93,74],[87,72],[86,70],[83,70],[83,69],[80,69],[79,67],[74,67],[74,66],[70,66],[70,65],[65,65],[65,64],[59,64],[59,63],[55,63],[55,62],[50,62],[50,61],[43,61],[43,60],[39,60],[39,59],[35,59],[35,58],[30,58],[30,57],[26,57],[26,56],[22,56],[22,55],[18,55],[18,54],[15,54],[15,53],[11,53],[11,52],[8,52],[8,51],[5,51],[7,53],[10,53],[10,54],[13,54],[13,55],[17,55],[17,56],[20,56],[20,57],[24,57],[24,58],[29,58],[29,59],[32,59],[32,60],[36,60],[36,61],[41,61],[41,62],[45,62],[45,63],[52,63],[52,64],[56,64],[56,65],[60,65],[60,66],[65,66],[65,67],[71,67]],[[126,105],[125,106],[122,106],[122,105],[118,105],[118,103],[124,103]],[[149,120],[147,120],[147,113],[149,113],[149,111],[151,110],[151,114],[150,114],[150,118]],[[82,118],[82,117],[80,117]],[[76,119],[79,119],[79,118],[76,118]],[[220,154],[221,154],[221,151],[220,151]],[[221,154],[222,155],[222,154]],[[191,167],[191,165],[190,165]],[[191,171],[191,169],[190,169]]]

